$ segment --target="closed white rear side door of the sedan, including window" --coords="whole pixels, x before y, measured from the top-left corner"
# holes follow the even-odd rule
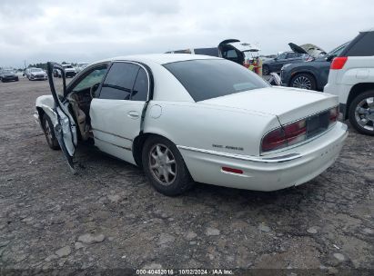
[[[135,163],[132,145],[140,133],[148,99],[147,69],[132,62],[115,62],[91,102],[90,117],[96,146],[103,152]]]

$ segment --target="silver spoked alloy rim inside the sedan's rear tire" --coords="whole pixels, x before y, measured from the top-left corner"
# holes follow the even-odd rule
[[[148,160],[149,169],[157,182],[167,186],[176,180],[176,158],[165,144],[155,144],[149,151]]]

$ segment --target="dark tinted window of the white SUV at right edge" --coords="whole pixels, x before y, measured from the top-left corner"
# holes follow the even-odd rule
[[[342,56],[374,55],[374,32],[359,34],[341,53]]]

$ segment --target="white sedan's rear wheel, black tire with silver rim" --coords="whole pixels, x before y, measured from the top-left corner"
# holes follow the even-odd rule
[[[161,136],[150,136],[143,147],[142,163],[149,182],[158,192],[176,196],[194,182],[177,146]]]

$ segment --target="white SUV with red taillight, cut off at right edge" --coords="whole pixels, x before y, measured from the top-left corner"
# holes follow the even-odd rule
[[[339,110],[359,131],[374,135],[374,28],[360,32],[334,58],[324,92],[339,96]]]

